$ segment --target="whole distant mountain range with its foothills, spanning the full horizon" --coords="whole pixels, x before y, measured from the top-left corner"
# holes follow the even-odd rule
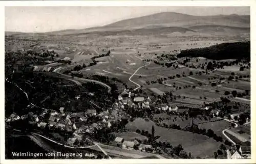
[[[125,19],[105,26],[88,29],[61,30],[30,35],[158,35],[196,32],[209,35],[248,35],[250,33],[249,15],[194,16],[175,12],[164,12],[143,17]],[[196,34],[195,33],[195,34]],[[26,33],[6,32],[6,35]],[[186,33],[187,34],[187,33]],[[189,33],[191,35],[191,33]]]

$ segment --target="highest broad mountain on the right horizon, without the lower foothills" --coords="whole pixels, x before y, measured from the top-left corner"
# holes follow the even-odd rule
[[[112,28],[144,28],[146,26],[180,26],[188,28],[194,25],[225,25],[225,26],[237,26],[247,27],[250,26],[249,15],[214,15],[214,16],[194,16],[175,12],[157,13],[137,18],[131,18],[126,20],[117,21],[104,27]]]

